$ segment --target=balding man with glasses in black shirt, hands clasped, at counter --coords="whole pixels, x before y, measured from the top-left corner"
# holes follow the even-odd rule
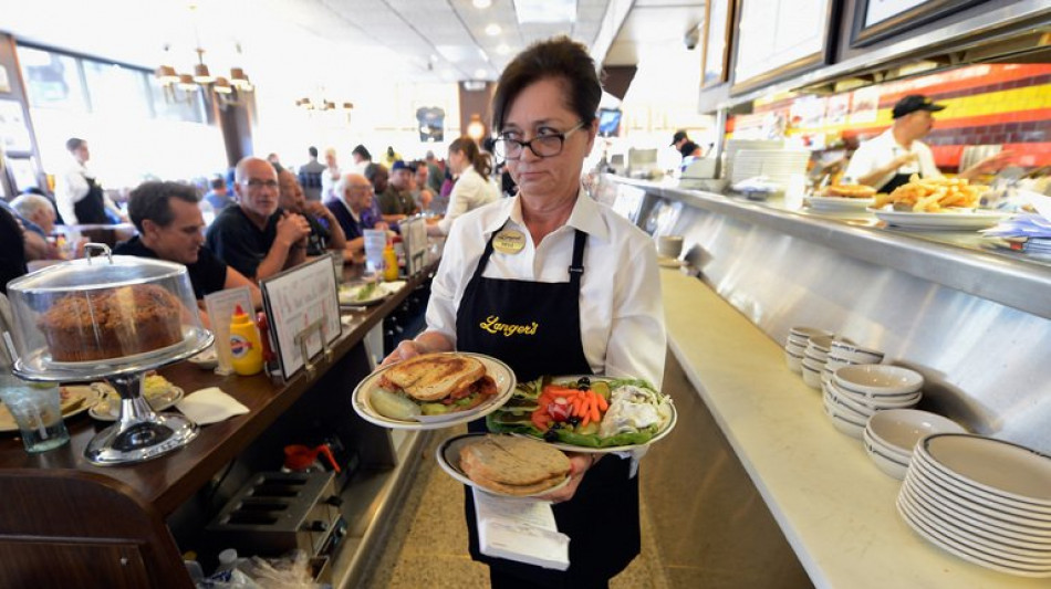
[[[222,209],[206,236],[216,255],[256,282],[306,260],[310,224],[278,206],[278,172],[266,159],[238,161],[237,206]]]

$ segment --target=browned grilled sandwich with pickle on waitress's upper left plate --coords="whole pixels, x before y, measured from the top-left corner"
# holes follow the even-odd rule
[[[485,365],[461,354],[416,356],[387,368],[378,385],[370,393],[373,408],[400,420],[467,411],[497,393]]]

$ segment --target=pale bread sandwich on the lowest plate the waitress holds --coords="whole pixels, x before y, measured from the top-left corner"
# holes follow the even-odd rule
[[[485,435],[460,449],[460,470],[485,488],[507,495],[534,495],[570,474],[570,459],[543,442]]]

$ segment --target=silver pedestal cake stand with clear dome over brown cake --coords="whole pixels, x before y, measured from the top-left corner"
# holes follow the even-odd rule
[[[93,252],[101,252],[105,260],[92,257]],[[159,298],[135,296],[142,293],[156,295],[160,288],[167,294]],[[147,370],[195,356],[215,339],[200,323],[186,266],[160,260],[111,255],[107,246],[89,244],[83,260],[48,266],[11,281],[8,296],[15,319],[12,351],[17,376],[44,382],[106,379],[121,396],[119,419],[95,434],[84,451],[90,462],[103,465],[142,462],[177,450],[197,435],[197,424],[191,420],[179,413],[157,413],[143,397]],[[101,335],[104,322],[115,326],[111,329],[121,329],[118,337],[123,338],[124,349],[148,351],[103,360],[55,360],[42,330],[42,317],[53,306],[70,301],[75,301],[66,305],[74,309],[73,315],[86,309],[91,329],[82,328],[82,333],[63,337],[80,337],[84,339],[81,345],[91,346],[89,338],[92,334],[96,341],[105,337]],[[143,320],[136,313],[152,304],[159,305],[158,313],[180,309],[176,319],[183,336],[180,341],[149,349],[145,328],[142,339],[135,340],[139,337],[137,322]],[[53,334],[52,337],[56,337]]]

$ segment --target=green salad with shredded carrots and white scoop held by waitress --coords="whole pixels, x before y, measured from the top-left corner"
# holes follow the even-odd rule
[[[496,432],[611,448],[648,442],[669,425],[672,416],[672,399],[644,380],[581,377],[519,383],[487,424]]]

